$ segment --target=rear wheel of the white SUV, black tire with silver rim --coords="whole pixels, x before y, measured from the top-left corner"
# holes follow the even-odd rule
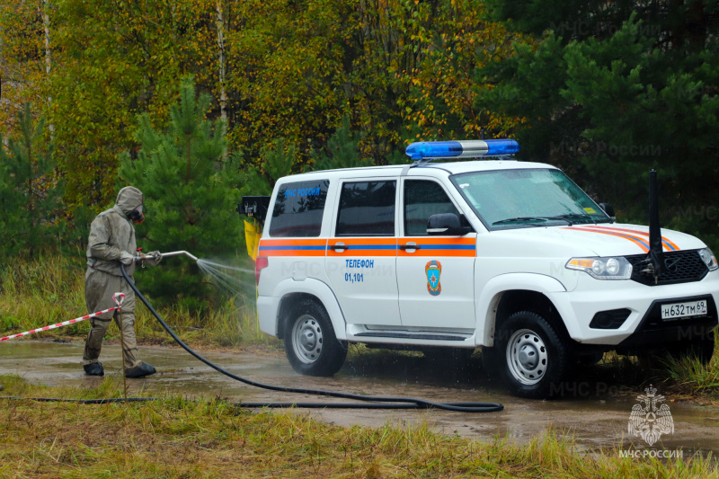
[[[330,316],[311,299],[302,299],[289,313],[285,353],[299,374],[333,376],[347,358],[347,344],[334,335]]]

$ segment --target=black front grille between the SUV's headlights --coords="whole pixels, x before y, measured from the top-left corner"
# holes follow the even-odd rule
[[[664,284],[688,283],[704,279],[709,268],[702,260],[697,250],[672,251],[664,253],[664,265],[661,267],[659,281],[654,282],[654,276],[642,273],[646,269],[647,254],[625,256],[626,261],[632,263],[632,280],[647,286],[660,286]],[[667,266],[671,265],[671,268]]]

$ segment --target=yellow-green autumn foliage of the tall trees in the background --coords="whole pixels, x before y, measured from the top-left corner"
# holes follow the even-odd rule
[[[281,138],[295,170],[349,120],[369,163],[411,139],[506,132],[475,105],[476,67],[515,37],[476,0],[34,0],[0,5],[0,133],[31,102],[55,143],[68,208],[113,197],[135,119],[170,120],[183,75],[226,120],[231,153],[259,166]],[[480,89],[482,87],[480,86]]]

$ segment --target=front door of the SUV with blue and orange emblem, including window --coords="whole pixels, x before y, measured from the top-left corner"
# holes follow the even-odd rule
[[[475,328],[476,233],[428,235],[432,215],[463,218],[433,179],[403,178],[397,286],[404,326]]]

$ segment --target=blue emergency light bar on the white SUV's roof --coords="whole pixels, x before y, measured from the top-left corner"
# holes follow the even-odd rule
[[[513,139],[470,141],[419,141],[407,146],[404,153],[413,160],[430,158],[478,158],[480,156],[514,155],[519,143]]]

